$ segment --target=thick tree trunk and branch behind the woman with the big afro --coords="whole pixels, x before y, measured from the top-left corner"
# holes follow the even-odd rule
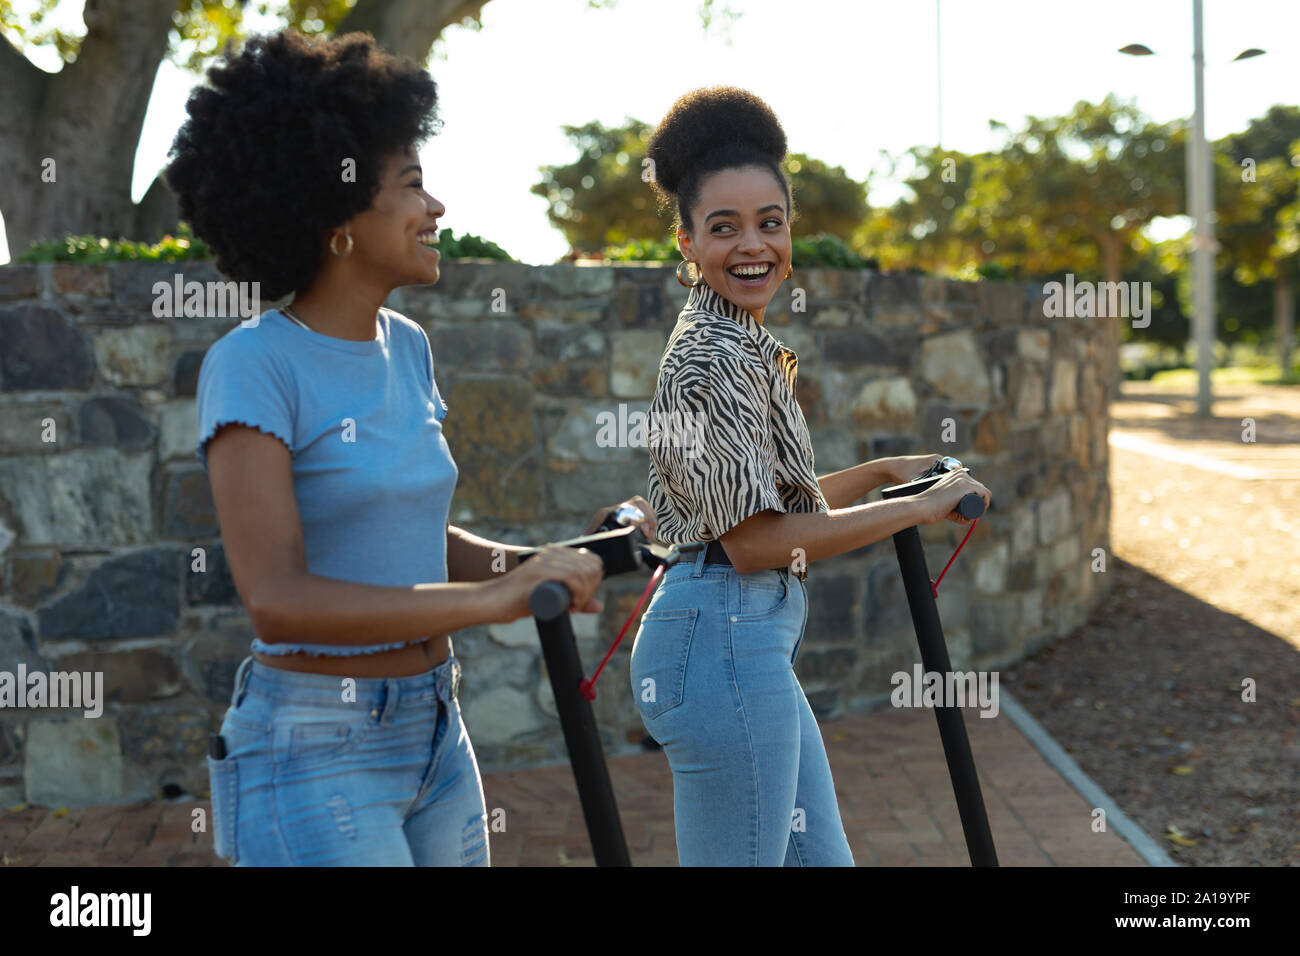
[[[358,0],[335,33],[365,30],[422,64],[445,27],[485,3]],[[10,256],[69,233],[155,242],[176,228],[176,200],[160,178],[139,206],[131,202],[174,9],[176,0],[86,0],[86,39],[58,73],[38,69],[0,38],[0,212]]]

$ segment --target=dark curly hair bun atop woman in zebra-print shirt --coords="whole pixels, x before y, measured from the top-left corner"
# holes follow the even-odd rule
[[[650,135],[646,156],[654,163],[655,183],[676,194],[694,163],[727,144],[753,147],[776,164],[785,159],[785,130],[771,107],[748,90],[707,86],[672,104]]]

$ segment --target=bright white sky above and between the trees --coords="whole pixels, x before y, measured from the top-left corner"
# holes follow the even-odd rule
[[[723,0],[718,0],[722,5]],[[23,3],[20,0],[20,9]],[[442,222],[476,233],[530,263],[567,251],[529,194],[538,166],[572,161],[562,125],[630,116],[654,125],[697,86],[727,83],[763,98],[790,150],[862,179],[897,156],[935,143],[978,152],[997,144],[988,121],[1013,129],[1108,92],[1134,99],[1156,121],[1192,112],[1191,0],[732,0],[744,12],[705,35],[697,0],[490,0],[484,29],[450,29],[429,62],[443,130],[421,150],[425,185]],[[936,56],[936,7],[939,55]],[[60,20],[77,31],[83,0]],[[268,22],[254,29],[276,29]],[[1118,51],[1144,43],[1156,56]],[[1232,62],[1249,47],[1266,56]],[[52,52],[29,51],[43,69]],[[1206,133],[1245,127],[1273,104],[1300,101],[1300,1],[1205,0]],[[941,85],[936,77],[941,66]],[[135,157],[139,202],[166,163],[198,78],[164,64]],[[888,204],[900,190],[868,195]],[[1174,230],[1176,232],[1176,229]],[[8,261],[0,242],[0,263]]]

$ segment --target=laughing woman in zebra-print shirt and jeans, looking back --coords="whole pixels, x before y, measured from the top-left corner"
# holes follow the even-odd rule
[[[676,209],[677,277],[690,291],[659,364],[647,498],[664,545],[699,542],[642,615],[630,683],[673,778],[682,866],[852,866],[826,748],[794,675],[807,567],[944,518],[967,492],[952,472],[913,498],[853,502],[911,480],[936,455],[816,477],[794,398],[797,355],[763,325],[792,276],[785,133],[745,90],[680,98],[647,144]],[[689,273],[689,278],[682,274]]]

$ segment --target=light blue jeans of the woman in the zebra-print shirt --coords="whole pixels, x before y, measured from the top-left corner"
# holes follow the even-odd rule
[[[684,558],[632,648],[646,731],[672,767],[682,866],[853,866],[831,765],[794,676],[807,591]]]

